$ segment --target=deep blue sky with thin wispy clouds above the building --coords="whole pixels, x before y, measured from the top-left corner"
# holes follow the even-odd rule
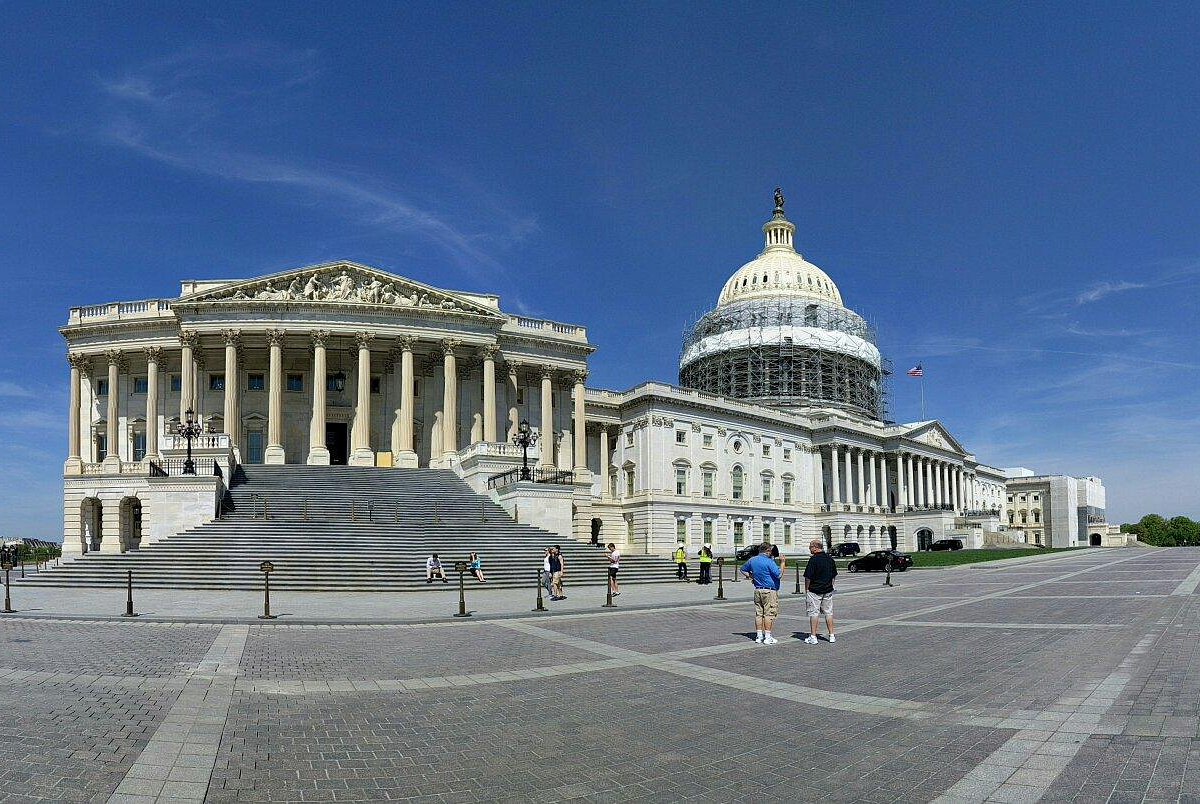
[[[875,322],[893,416],[1200,517],[1194,4],[0,6],[0,533],[61,533],[68,307],[348,258],[674,382],[761,247]]]

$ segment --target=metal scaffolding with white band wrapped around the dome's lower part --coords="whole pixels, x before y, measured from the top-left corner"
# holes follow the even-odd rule
[[[804,343],[786,332],[802,328]],[[851,336],[847,340],[845,336]],[[870,344],[858,353],[847,343]],[[830,407],[883,421],[890,362],[857,313],[779,296],[722,305],[684,334],[679,384],[780,408]]]

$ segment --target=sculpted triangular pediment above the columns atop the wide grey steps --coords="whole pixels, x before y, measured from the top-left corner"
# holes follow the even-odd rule
[[[349,262],[311,265],[232,282],[182,296],[175,306],[210,302],[371,305],[505,318],[503,313],[450,290]]]

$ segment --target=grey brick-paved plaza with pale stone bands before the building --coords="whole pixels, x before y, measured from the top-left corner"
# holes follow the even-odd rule
[[[293,593],[271,623],[17,587],[0,802],[1200,802],[1200,550],[893,578],[839,578],[835,644],[785,594],[769,647],[745,582],[470,589],[466,620],[449,589]]]

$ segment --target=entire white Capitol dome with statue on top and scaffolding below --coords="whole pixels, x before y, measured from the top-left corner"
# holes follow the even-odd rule
[[[716,307],[684,338],[679,384],[775,408],[839,408],[882,420],[889,372],[875,332],[842,304],[833,280],[797,253],[779,190],[762,230],[762,253],[730,277]]]

